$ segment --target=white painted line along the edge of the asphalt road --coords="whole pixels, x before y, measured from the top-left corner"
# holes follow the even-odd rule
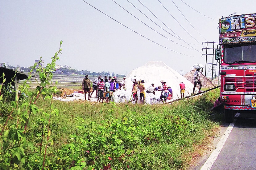
[[[235,124],[235,122],[229,124],[229,127],[224,132],[223,136],[221,137],[221,140],[217,144],[216,149],[214,149],[214,151],[211,153],[211,155],[206,160],[206,162],[204,163],[204,165],[202,166],[202,168],[200,170],[210,170],[212,168],[215,160],[217,159],[218,155],[221,152],[222,147],[224,146],[226,140],[228,139],[229,134],[234,127],[234,124]]]

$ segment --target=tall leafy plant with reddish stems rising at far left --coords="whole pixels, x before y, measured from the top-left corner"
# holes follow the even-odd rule
[[[1,127],[0,133],[0,169],[46,169],[47,165],[47,148],[53,145],[53,141],[50,138],[50,121],[51,118],[58,115],[58,110],[53,108],[51,104],[52,94],[46,95],[46,87],[51,84],[52,72],[55,70],[56,61],[59,60],[58,54],[62,51],[62,42],[60,42],[59,51],[57,51],[52,57],[52,62],[47,64],[45,68],[38,63],[42,62],[41,57],[38,63],[35,63],[32,67],[28,79],[24,81],[23,85],[19,87],[19,94],[28,93],[29,86],[26,84],[31,79],[33,70],[39,73],[39,86],[34,92],[28,93],[29,100],[25,102],[19,102],[18,97],[15,101],[11,101],[11,109],[7,117],[6,123]],[[5,82],[3,74],[3,83]],[[0,92],[2,85],[0,86]],[[18,90],[18,89],[17,89]],[[56,92],[56,88],[53,89]],[[5,100],[11,100],[13,91],[6,91]],[[36,101],[40,95],[44,96],[46,101],[50,102],[51,108],[48,111],[43,111],[36,107]],[[3,94],[0,96],[1,105],[3,102]],[[40,152],[33,143],[30,143],[26,139],[26,133],[29,132],[29,119],[31,114],[43,114],[46,119],[41,119],[42,122],[42,135],[40,143]],[[16,121],[10,121],[16,120]],[[37,126],[40,126],[37,125]],[[44,137],[45,136],[45,137]],[[44,152],[42,153],[42,147]],[[31,158],[35,158],[31,163]]]

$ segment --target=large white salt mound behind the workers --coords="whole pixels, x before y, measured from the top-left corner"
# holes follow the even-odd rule
[[[161,80],[166,81],[167,87],[170,86],[173,92],[173,100],[180,98],[180,81],[182,81],[185,86],[185,97],[189,96],[193,92],[194,85],[188,81],[185,77],[180,75],[177,71],[172,69],[171,67],[167,66],[162,61],[148,61],[145,65],[142,65],[141,67],[138,67],[137,69],[132,70],[127,76],[127,84],[126,88],[127,90],[118,90],[113,94],[114,101],[115,102],[122,102],[122,101],[130,101],[132,99],[131,91],[132,91],[132,85],[133,82],[131,81],[131,78],[134,76],[139,77],[141,80],[144,80],[145,88],[147,89],[148,86],[151,85],[151,83],[155,83],[155,87],[161,86]],[[197,89],[198,90],[198,89]],[[159,99],[161,92],[157,91],[155,95],[152,93],[146,93],[145,101],[148,104],[152,104],[152,100],[155,98],[155,102],[157,103],[157,99]],[[139,97],[139,91],[138,91],[138,98]],[[138,99],[139,101],[139,99]],[[169,100],[170,101],[170,100]],[[168,100],[167,100],[168,102]]]

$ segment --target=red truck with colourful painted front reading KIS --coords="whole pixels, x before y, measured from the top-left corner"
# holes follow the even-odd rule
[[[220,18],[219,28],[220,97],[233,122],[237,112],[256,113],[256,14]]]

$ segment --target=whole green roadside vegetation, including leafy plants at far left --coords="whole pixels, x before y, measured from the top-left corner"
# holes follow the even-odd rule
[[[208,112],[218,91],[171,105],[62,102],[42,88],[44,73],[32,101],[0,119],[0,169],[185,169],[217,126]]]

